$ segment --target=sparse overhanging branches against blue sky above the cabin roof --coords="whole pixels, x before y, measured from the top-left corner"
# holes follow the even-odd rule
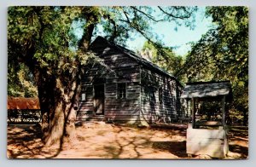
[[[109,41],[125,45],[126,39],[133,37],[134,32],[140,33],[148,42],[153,43],[159,51],[163,43],[159,43],[157,33],[152,32],[151,25],[160,21],[175,22],[193,28],[195,25],[196,7],[103,7],[100,24]]]

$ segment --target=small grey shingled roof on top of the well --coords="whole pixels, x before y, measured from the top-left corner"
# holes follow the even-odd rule
[[[232,98],[230,81],[187,83],[181,98],[217,97],[225,95]]]

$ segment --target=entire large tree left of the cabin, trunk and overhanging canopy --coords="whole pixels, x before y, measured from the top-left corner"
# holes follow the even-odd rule
[[[32,73],[43,112],[46,145],[61,147],[64,138],[74,137],[74,107],[79,98],[83,66],[96,59],[90,54],[89,46],[94,33],[100,29],[98,25],[110,42],[125,44],[132,32],[139,32],[161,49],[150,24],[159,21],[180,24],[181,20],[189,21],[195,10],[185,7],[9,7],[9,63],[24,64]],[[81,38],[73,29],[73,25],[79,23],[84,23],[80,24],[84,30]],[[188,22],[186,25],[189,26]],[[11,75],[15,71],[9,72]]]

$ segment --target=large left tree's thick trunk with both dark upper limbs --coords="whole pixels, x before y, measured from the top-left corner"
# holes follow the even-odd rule
[[[42,66],[42,62],[34,55],[38,52],[38,47],[39,50],[46,49],[44,47],[40,48],[40,46],[44,41],[45,28],[49,25],[43,21],[44,14],[42,13],[42,9],[34,9],[40,24],[39,33],[36,35],[37,37],[35,36],[35,38],[32,37],[27,40],[26,47],[15,42],[12,45],[15,46],[15,50],[20,52],[17,55],[19,55],[20,59],[29,67],[35,78],[35,83],[38,86],[38,98],[43,116],[41,124],[44,133],[43,141],[47,146],[56,145],[61,147],[65,138],[71,140],[75,137],[73,132],[75,131],[74,123],[76,111],[73,107],[79,99],[81,62],[79,62],[79,59],[68,59],[66,55],[58,55],[60,59],[46,60],[49,65]],[[30,17],[33,19],[35,16],[32,15]],[[84,26],[84,35],[79,43],[79,49],[86,52],[89,48],[90,39],[97,23],[97,15],[91,12],[90,9],[84,8],[84,18],[88,20],[88,22],[92,21],[90,25]],[[68,48],[68,41],[66,41],[66,44]],[[65,46],[65,44],[63,45]],[[40,53],[41,51],[42,50],[40,50]],[[43,58],[44,57],[42,57],[42,59]],[[61,58],[65,58],[66,61],[61,62]],[[73,64],[73,66],[76,67],[70,66],[70,68],[65,71],[65,69],[59,68],[59,65],[64,63]]]

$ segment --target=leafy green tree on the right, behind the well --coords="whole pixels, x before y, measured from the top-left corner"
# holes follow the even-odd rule
[[[231,112],[248,116],[248,9],[207,7],[212,29],[194,43],[183,70],[189,82],[230,80],[234,103]]]

